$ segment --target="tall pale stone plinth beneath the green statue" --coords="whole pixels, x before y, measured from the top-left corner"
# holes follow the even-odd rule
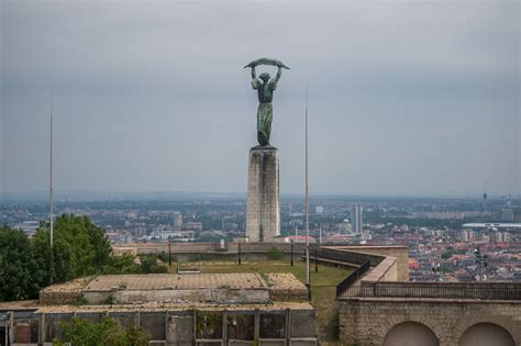
[[[271,146],[250,150],[246,236],[250,242],[274,242],[280,235],[279,156]]]

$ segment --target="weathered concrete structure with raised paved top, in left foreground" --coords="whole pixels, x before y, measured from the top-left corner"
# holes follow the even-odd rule
[[[0,305],[0,345],[51,345],[60,321],[103,315],[154,345],[317,344],[315,311],[290,274],[155,274],[77,279],[42,290],[38,303]]]

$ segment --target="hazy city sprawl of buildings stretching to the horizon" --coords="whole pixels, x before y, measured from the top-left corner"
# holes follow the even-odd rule
[[[363,201],[363,202],[361,202]],[[310,242],[319,245],[403,245],[413,281],[521,281],[521,209],[496,199],[312,198]],[[245,200],[56,201],[57,214],[88,216],[111,244],[210,242],[245,237]],[[31,237],[47,217],[45,203],[3,203],[2,223]],[[278,242],[304,243],[301,199],[281,202]]]

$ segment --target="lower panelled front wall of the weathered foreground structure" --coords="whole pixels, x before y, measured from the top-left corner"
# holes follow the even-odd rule
[[[153,345],[299,345],[317,344],[315,312],[308,303],[270,306],[99,305],[0,311],[0,345],[52,345],[58,324],[70,317],[96,321],[110,316],[120,326],[135,325]],[[5,335],[5,330],[9,335]]]

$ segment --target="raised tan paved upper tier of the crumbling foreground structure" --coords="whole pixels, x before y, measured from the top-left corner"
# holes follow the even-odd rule
[[[148,274],[107,275],[78,279],[40,292],[42,305],[69,304],[79,298],[90,304],[206,302],[221,304],[307,301],[306,286],[290,274]]]

